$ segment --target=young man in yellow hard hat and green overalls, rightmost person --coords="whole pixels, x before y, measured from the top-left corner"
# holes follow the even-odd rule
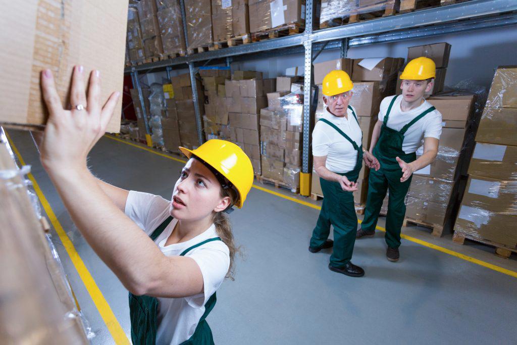
[[[399,260],[400,231],[406,213],[404,198],[413,173],[431,164],[438,153],[442,114],[423,98],[432,89],[435,76],[436,67],[430,58],[410,61],[400,76],[402,95],[386,97],[381,102],[373,129],[370,150],[381,169],[370,172],[366,211],[356,238],[374,235],[389,190],[385,239],[386,257],[392,262]],[[422,138],[423,154],[416,159]]]

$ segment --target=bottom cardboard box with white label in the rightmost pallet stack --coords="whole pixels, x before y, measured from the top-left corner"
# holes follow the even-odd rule
[[[515,224],[517,224],[515,216],[462,203],[454,224],[454,231],[515,248],[517,246]]]

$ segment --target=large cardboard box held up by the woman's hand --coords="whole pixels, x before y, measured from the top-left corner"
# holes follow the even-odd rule
[[[40,73],[49,68],[57,93],[66,107],[74,65],[100,71],[101,102],[114,91],[123,92],[128,2],[78,0],[60,2],[13,1],[2,6],[0,33],[3,83],[0,123],[42,129],[48,112],[41,96]],[[120,130],[119,97],[108,132]]]

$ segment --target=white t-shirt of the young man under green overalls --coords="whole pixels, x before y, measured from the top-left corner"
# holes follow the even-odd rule
[[[389,103],[393,97],[397,96],[386,97],[381,102],[378,116],[379,121],[384,121],[384,116],[388,111]],[[424,101],[419,107],[413,110],[402,111],[400,109],[401,101],[402,95],[399,95],[395,103],[393,103],[393,107],[391,107],[391,112],[389,114],[387,123],[389,128],[398,131],[400,131],[406,124],[411,122],[415,117],[433,106],[428,101]],[[442,134],[442,114],[440,114],[438,110],[433,110],[432,112],[419,119],[404,133],[402,151],[405,153],[416,152],[417,148],[422,145],[422,138],[431,137],[440,139],[440,134]]]

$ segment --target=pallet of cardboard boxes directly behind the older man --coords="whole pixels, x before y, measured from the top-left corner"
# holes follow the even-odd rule
[[[377,121],[379,106],[384,97],[393,95],[397,83],[397,72],[404,63],[402,58],[373,58],[373,59],[336,59],[332,61],[314,64],[314,80],[318,84],[318,106],[315,121],[323,116],[324,101],[321,94],[323,78],[334,69],[342,69],[352,76],[354,88],[349,105],[355,108],[362,130],[363,148],[370,148],[373,126]],[[356,211],[364,213],[366,197],[368,193],[369,168],[362,162],[359,174],[358,190],[354,192]],[[320,185],[320,177],[313,170],[311,183],[311,196],[313,199],[323,197]]]

